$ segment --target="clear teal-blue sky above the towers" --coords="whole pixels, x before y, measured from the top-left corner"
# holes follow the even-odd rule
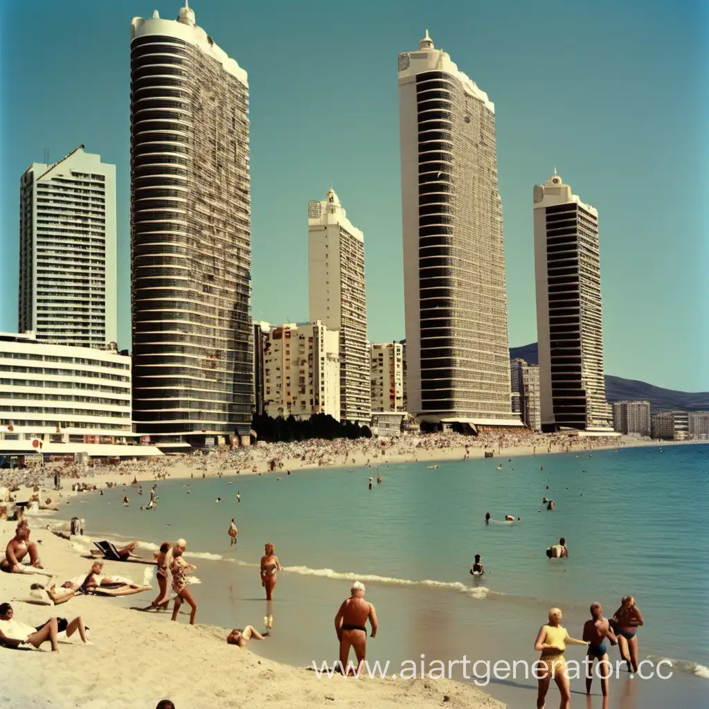
[[[0,330],[17,328],[18,190],[43,150],[117,166],[130,346],[129,42],[179,0],[1,3]],[[532,186],[554,164],[601,225],[605,371],[709,390],[705,0],[192,0],[249,73],[253,315],[306,320],[307,203],[364,230],[369,337],[404,337],[398,52],[428,28],[496,105],[510,344],[536,340]]]

